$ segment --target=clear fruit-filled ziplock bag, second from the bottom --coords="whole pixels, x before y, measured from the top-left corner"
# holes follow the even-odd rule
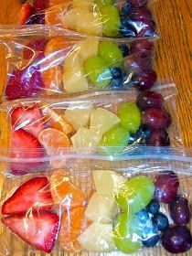
[[[6,101],[1,109],[11,125],[11,157],[16,158],[9,169],[22,175],[34,165],[18,158],[52,155],[51,148],[121,155],[139,144],[178,146],[182,141],[175,96],[169,84],[141,93],[102,91],[71,99]]]

